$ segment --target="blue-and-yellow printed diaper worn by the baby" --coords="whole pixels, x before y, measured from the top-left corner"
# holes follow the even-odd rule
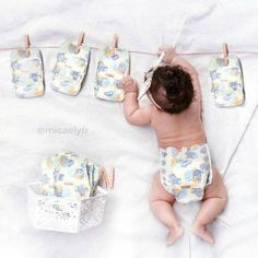
[[[163,187],[181,203],[201,200],[212,180],[207,143],[160,149],[160,167]]]

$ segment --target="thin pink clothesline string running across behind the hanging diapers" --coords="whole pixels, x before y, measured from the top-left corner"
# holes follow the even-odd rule
[[[10,51],[10,50],[15,50],[19,47],[5,47],[5,48],[0,48],[0,51]],[[51,48],[59,48],[59,46],[40,46],[40,47],[31,47],[31,48],[42,48],[42,49],[51,49]],[[99,50],[99,47],[90,47],[92,50]],[[129,52],[132,54],[140,54],[140,55],[146,55],[146,56],[156,56],[156,52],[151,52],[151,51],[140,51],[140,50],[129,50]],[[239,54],[239,55],[258,55],[258,51],[241,51],[241,50],[233,50],[230,51],[230,54]],[[181,56],[209,56],[209,55],[219,55],[222,54],[221,51],[200,51],[200,52],[177,52],[178,55]]]

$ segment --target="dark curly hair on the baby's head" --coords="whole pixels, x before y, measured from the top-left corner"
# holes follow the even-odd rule
[[[191,77],[180,66],[159,67],[149,89],[154,102],[166,113],[179,114],[194,98]]]

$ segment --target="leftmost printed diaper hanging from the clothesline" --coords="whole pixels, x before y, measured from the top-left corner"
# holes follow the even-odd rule
[[[19,97],[36,97],[44,94],[42,52],[36,48],[17,49],[11,54],[12,81]]]

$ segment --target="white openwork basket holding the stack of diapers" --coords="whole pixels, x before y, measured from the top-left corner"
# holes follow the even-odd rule
[[[69,200],[40,195],[40,183],[27,186],[28,216],[36,228],[78,233],[101,224],[107,191],[96,188],[94,197],[83,200]]]

